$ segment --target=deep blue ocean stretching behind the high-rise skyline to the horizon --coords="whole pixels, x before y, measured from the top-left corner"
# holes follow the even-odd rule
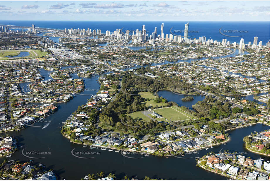
[[[0,21],[4,25],[17,25],[17,26],[31,26],[35,24],[38,28],[52,28],[52,29],[101,29],[102,33],[106,30],[113,32],[116,29],[125,30],[142,30],[142,25],[145,25],[147,34],[152,34],[154,28],[157,27],[157,34],[161,34],[161,24],[164,23],[164,34],[175,34],[184,36],[184,27],[188,21]],[[221,29],[220,29],[221,28]],[[244,42],[248,43],[255,36],[263,45],[269,41],[269,22],[267,21],[190,21],[189,34],[190,38],[205,36],[206,40],[213,39],[222,41],[240,42],[244,38]],[[222,35],[221,33],[229,36]],[[237,36],[237,37],[230,37]]]

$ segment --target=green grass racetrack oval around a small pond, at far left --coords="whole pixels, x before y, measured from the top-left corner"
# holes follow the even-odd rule
[[[17,56],[20,52],[29,52],[29,55],[26,57],[6,57],[6,56]],[[21,58],[40,58],[47,55],[47,52],[41,52],[39,49],[22,49],[22,50],[1,50],[0,51],[0,60],[9,60],[9,59],[21,59]]]

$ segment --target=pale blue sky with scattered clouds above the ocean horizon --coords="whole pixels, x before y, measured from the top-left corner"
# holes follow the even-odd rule
[[[270,1],[0,1],[0,20],[270,21]]]

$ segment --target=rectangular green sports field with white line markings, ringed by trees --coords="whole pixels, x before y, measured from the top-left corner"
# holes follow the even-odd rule
[[[164,117],[167,120],[171,119],[171,121],[192,119],[194,117],[182,110],[181,111],[177,110],[176,107],[174,106],[155,109],[154,112],[156,112],[159,115],[162,115],[162,117]]]

